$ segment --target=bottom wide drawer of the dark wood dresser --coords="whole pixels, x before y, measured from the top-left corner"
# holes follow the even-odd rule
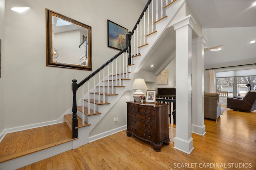
[[[155,133],[149,132],[149,131],[145,131],[143,129],[140,129],[134,125],[128,125],[127,126],[127,130],[131,131],[132,133],[144,138],[144,139],[148,139],[150,141],[155,141],[156,140],[156,135]]]

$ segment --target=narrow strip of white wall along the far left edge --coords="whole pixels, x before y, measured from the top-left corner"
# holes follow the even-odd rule
[[[0,134],[4,130],[4,3],[5,0],[0,0],[0,39],[2,40],[1,50],[1,78],[0,78]],[[0,135],[1,136],[1,135]]]

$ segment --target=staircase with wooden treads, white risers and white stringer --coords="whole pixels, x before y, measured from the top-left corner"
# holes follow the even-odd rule
[[[163,2],[163,0],[159,0],[159,2],[160,1]],[[171,2],[167,4],[168,1]],[[76,84],[78,85],[78,88],[82,87],[82,90],[79,90],[79,92],[82,91],[83,97],[78,100],[78,102],[77,100],[74,100],[75,104],[73,102],[73,106],[76,106],[76,108],[67,111],[69,114],[64,115],[64,121],[72,131],[74,129],[77,131],[78,137],[73,137],[74,139],[70,139],[70,141],[58,143],[58,145],[48,149],[37,150],[34,153],[21,155],[21,157],[16,156],[16,158],[12,160],[2,161],[0,162],[0,170],[20,168],[126,129],[126,126],[124,126],[102,135],[90,136],[92,129],[96,127],[102,117],[108,113],[122,95],[127,91],[132,91],[130,86],[134,79],[134,73],[137,73],[140,70],[143,63],[148,60],[148,56],[153,53],[157,45],[159,45],[160,41],[164,38],[166,31],[168,31],[168,27],[171,26],[170,23],[173,18],[176,17],[175,15],[180,10],[185,0],[166,0],[167,5],[165,7],[162,4],[158,7],[158,0],[153,0],[152,3],[150,2],[151,0],[148,2],[145,9],[157,8],[159,9],[159,16],[162,17],[159,20],[152,17],[152,27],[150,26],[150,28],[147,28],[147,31],[140,32],[139,29],[142,30],[142,27],[144,27],[144,30],[148,27],[145,18],[150,18],[152,15],[155,15],[151,14],[150,16],[149,10],[142,12],[141,17],[130,34],[132,36],[132,41],[127,41],[127,44],[131,45],[130,47],[132,50],[128,49],[127,51],[124,51],[124,53],[119,54],[115,59],[113,59],[113,57],[112,61],[105,64],[103,69],[96,70],[96,74],[87,78],[88,80],[85,79],[86,81],[83,80],[82,84]],[[158,4],[156,4],[156,2],[158,2]],[[165,11],[163,12],[163,10]],[[153,13],[155,12],[158,12],[158,10],[153,11]],[[143,18],[145,15],[147,17]],[[153,22],[153,20],[155,22]],[[148,21],[148,23],[151,23],[151,21]],[[142,37],[144,40],[142,40]],[[129,58],[130,63],[127,63]],[[86,94],[84,94],[84,90],[87,90]],[[126,106],[126,104],[124,104],[124,106]],[[72,110],[73,114],[70,114],[72,113]],[[72,127],[74,117],[77,118],[77,127]]]

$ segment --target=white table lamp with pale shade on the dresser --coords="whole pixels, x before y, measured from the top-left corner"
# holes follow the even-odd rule
[[[148,87],[143,78],[135,78],[134,82],[132,83],[131,89],[136,89],[136,92],[133,93],[133,98],[136,102],[139,102],[139,95],[144,96],[144,93],[141,90],[147,90]]]

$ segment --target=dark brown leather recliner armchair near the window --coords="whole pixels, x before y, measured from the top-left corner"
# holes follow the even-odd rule
[[[256,109],[256,91],[248,91],[242,99],[227,98],[227,108],[240,111],[253,111]]]

